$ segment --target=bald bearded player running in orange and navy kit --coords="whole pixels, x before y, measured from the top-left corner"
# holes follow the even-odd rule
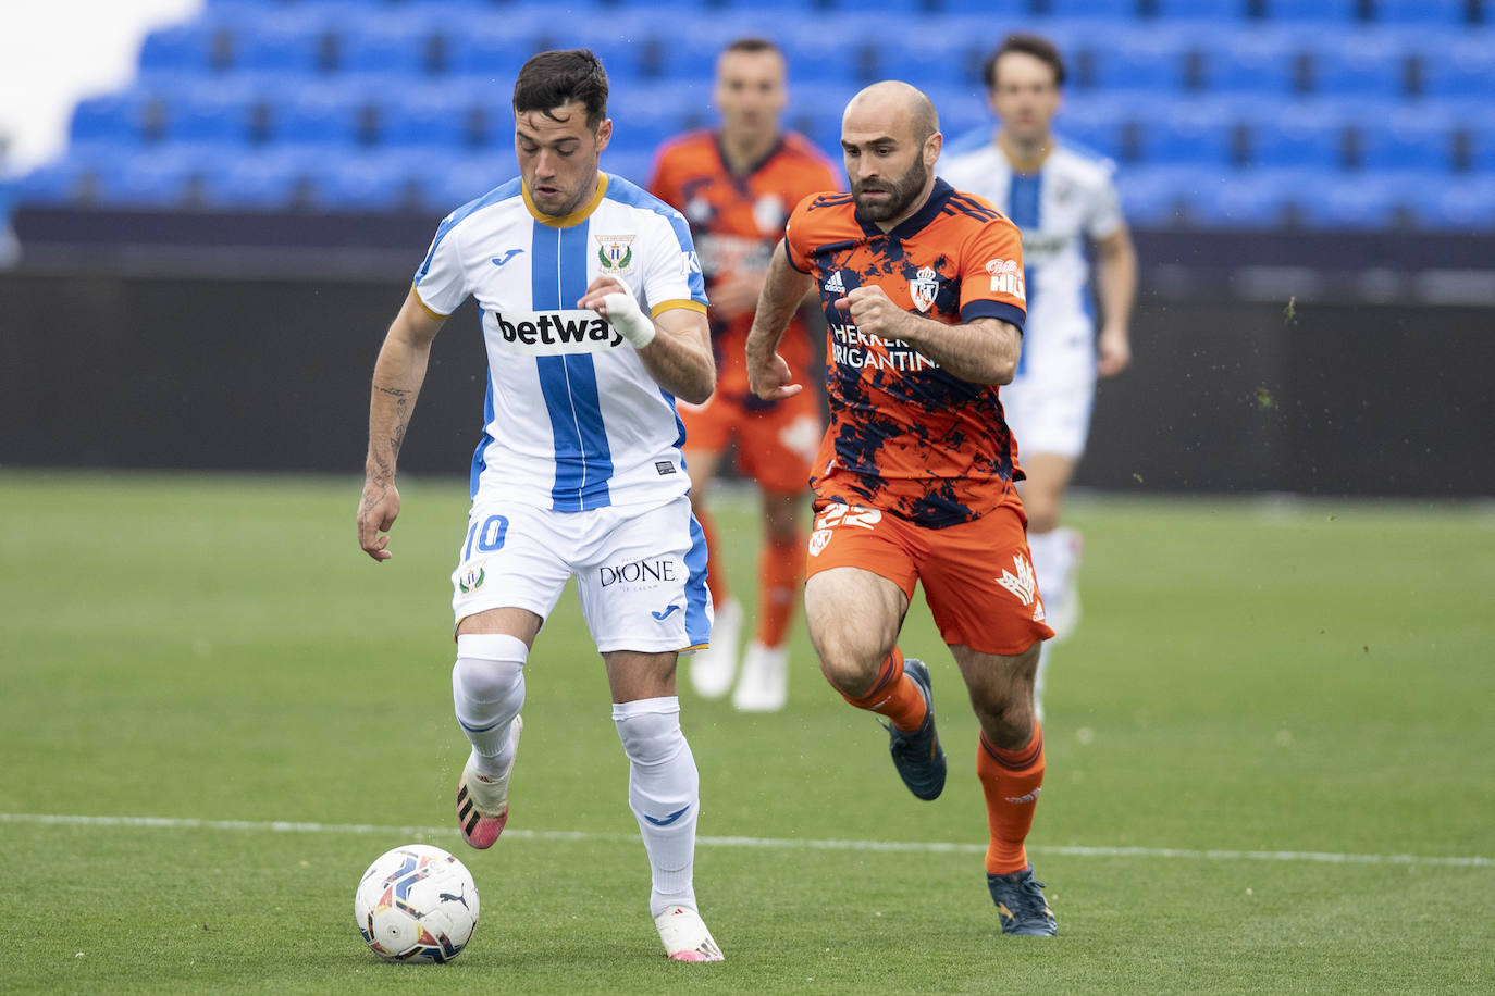
[[[1023,246],[988,202],[934,176],[942,143],[934,106],[907,84],[873,84],[846,105],[852,193],[807,197],[789,217],[748,337],[748,373],[758,397],[800,394],[776,349],[801,297],[819,288],[831,424],[810,482],[804,614],[821,670],[854,706],[888,720],[898,775],[919,799],[937,797],[945,751],[930,673],[897,647],[924,585],[981,723],[987,887],[1002,929],[1052,935],[1024,842],[1044,784],[1033,673],[1054,632],[997,400],[1023,345]]]

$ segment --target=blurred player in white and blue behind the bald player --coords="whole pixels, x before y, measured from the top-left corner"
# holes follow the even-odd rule
[[[982,131],[952,143],[940,173],[1000,206],[1023,230],[1027,326],[1023,360],[1012,384],[1002,388],[1002,406],[1027,470],[1020,491],[1033,569],[1048,623],[1063,639],[1079,614],[1073,584],[1079,535],[1060,526],[1060,503],[1085,449],[1096,376],[1114,376],[1132,361],[1136,252],[1111,179],[1112,163],[1055,139],[1051,130],[1064,87],[1058,49],[1035,34],[1011,34],[987,58],[984,79],[1000,127],[994,136]],[[1039,659],[1039,715],[1044,664],[1054,642],[1044,644]]]

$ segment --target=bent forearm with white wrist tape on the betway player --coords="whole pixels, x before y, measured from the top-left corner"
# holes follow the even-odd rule
[[[628,343],[659,387],[692,405],[703,405],[716,390],[716,357],[706,315],[670,308],[646,315],[626,284],[616,276],[594,279],[577,308],[591,308]]]

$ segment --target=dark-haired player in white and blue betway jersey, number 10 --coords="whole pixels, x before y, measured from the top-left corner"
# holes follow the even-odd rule
[[[628,802],[665,954],[721,960],[692,885],[698,778],[676,659],[704,647],[706,542],[691,515],[674,399],[716,379],[706,291],[677,211],[598,172],[613,133],[589,51],[541,52],[514,84],[519,179],[437,230],[374,369],[359,544],[387,560],[395,461],[431,342],[469,296],[487,346],[472,508],[451,575],[451,688],[472,745],[457,821],[477,848],[508,818],[525,662],[567,581],[607,667]]]

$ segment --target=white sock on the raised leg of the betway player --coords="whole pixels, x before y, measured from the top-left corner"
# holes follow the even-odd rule
[[[502,633],[457,636],[451,700],[472,744],[472,766],[499,778],[514,763],[508,726],[525,705],[525,641]]]

